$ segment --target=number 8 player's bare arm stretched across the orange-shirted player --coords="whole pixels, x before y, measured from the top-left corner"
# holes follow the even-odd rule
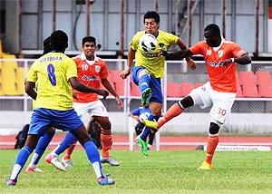
[[[85,93],[97,93],[98,95],[102,95],[103,99],[105,99],[109,92],[102,90],[102,89],[95,89],[89,86],[84,85],[82,82],[80,82],[77,77],[72,77],[69,79],[69,82],[73,89],[79,91],[79,92],[85,92]]]

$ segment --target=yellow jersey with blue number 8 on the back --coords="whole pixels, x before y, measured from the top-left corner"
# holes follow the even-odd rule
[[[46,53],[35,60],[26,81],[38,85],[35,108],[65,111],[73,108],[68,80],[77,77],[76,64],[63,53]]]

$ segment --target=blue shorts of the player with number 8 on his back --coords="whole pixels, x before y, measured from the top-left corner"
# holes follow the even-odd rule
[[[72,109],[68,111],[57,111],[53,109],[34,109],[28,134],[43,135],[49,127],[63,131],[73,131],[80,128],[83,121]]]

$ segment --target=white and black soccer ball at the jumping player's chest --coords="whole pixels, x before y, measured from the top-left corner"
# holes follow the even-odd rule
[[[144,52],[154,51],[157,44],[157,38],[153,34],[143,34],[139,41],[139,45]]]

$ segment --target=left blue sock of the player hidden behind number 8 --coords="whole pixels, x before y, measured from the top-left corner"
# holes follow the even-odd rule
[[[40,138],[38,141],[37,147],[35,149],[35,153],[37,158],[33,161],[34,165],[36,165],[39,160],[42,158],[44,154],[44,150],[46,150],[47,146],[49,145],[50,141],[53,139],[54,132],[44,133],[44,136]]]

